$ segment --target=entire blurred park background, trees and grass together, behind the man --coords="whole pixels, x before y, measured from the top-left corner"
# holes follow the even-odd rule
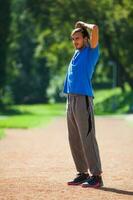
[[[131,0],[0,1],[0,137],[65,115],[63,83],[76,21],[99,26],[95,114],[133,113]]]

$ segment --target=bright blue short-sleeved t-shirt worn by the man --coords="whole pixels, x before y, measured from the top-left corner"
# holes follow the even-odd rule
[[[92,89],[92,75],[99,58],[99,45],[75,50],[66,75],[64,90],[66,94],[94,96]]]

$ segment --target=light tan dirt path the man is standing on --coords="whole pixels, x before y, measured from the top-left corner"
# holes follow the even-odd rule
[[[133,199],[133,126],[124,119],[96,118],[103,189],[67,186],[75,175],[66,121],[47,128],[8,129],[0,141],[0,200]]]

